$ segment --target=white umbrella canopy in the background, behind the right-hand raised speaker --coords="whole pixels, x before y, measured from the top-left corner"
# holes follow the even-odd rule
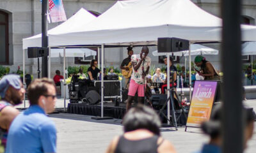
[[[216,50],[214,48],[210,48],[210,47],[205,47],[203,45],[199,45],[199,44],[191,44],[191,55],[218,55],[219,54],[219,50]],[[166,55],[166,53],[159,53],[156,51],[152,52],[152,54],[154,56],[161,56],[161,55]],[[189,50],[184,50],[184,51],[180,51],[180,52],[173,52],[173,55],[175,56],[188,56],[189,55]]]

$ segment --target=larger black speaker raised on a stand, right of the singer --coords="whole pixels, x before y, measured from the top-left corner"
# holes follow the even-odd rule
[[[158,38],[158,52],[179,52],[189,50],[189,41],[180,38]]]

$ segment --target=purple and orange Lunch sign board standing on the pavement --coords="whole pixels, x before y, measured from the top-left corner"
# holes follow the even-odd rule
[[[210,119],[218,86],[218,81],[195,82],[185,131],[188,127],[200,128],[202,122]]]

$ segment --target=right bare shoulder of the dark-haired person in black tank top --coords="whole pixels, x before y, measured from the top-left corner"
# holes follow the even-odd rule
[[[168,140],[164,140],[163,137],[158,139],[157,144],[159,144],[157,149],[159,153],[176,153],[172,143]]]

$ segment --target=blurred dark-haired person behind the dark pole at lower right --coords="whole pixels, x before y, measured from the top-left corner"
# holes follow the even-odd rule
[[[246,143],[252,138],[253,126],[254,126],[254,116],[250,109],[244,108],[246,112],[246,127],[244,129],[244,149],[246,148]],[[202,150],[197,153],[221,153],[221,107],[216,106],[212,112],[211,119],[207,122],[203,122],[201,125],[202,130],[206,135],[210,136],[210,141],[204,144]]]

